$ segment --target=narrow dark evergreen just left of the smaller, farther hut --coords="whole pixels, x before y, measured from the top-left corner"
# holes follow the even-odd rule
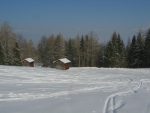
[[[14,54],[14,63],[13,63],[13,65],[21,66],[22,62],[21,62],[21,57],[20,57],[20,49],[19,49],[19,46],[18,46],[17,42],[15,44],[15,48],[13,49],[13,54]]]

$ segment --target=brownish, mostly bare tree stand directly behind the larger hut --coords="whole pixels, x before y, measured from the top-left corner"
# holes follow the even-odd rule
[[[53,61],[66,57],[72,66],[98,66],[100,44],[92,33],[65,39],[63,35],[42,37],[38,44],[40,61],[53,67]]]

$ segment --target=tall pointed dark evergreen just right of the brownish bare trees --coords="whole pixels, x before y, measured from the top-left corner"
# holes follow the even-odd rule
[[[113,33],[112,39],[106,45],[105,64],[108,67],[126,66],[124,43],[116,32]]]

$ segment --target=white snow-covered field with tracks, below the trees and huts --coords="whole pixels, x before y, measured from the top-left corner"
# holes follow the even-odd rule
[[[150,69],[0,66],[0,113],[150,113]]]

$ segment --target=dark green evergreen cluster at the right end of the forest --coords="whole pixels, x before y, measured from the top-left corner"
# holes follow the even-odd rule
[[[103,67],[150,67],[150,29],[134,35],[127,46],[119,34],[113,33],[100,56],[100,66]]]

